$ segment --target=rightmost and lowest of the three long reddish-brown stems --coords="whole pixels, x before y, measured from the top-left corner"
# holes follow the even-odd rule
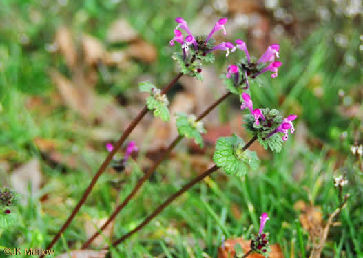
[[[242,151],[245,151],[246,149],[248,149],[248,147],[251,146],[251,144],[255,140],[257,140],[257,136],[253,136],[253,138],[251,140],[249,140],[249,142],[247,142],[247,144],[245,144],[245,146],[242,148]],[[214,165],[210,169],[208,169],[207,171],[205,171],[203,174],[198,175],[198,177],[194,178],[194,180],[191,180],[189,183],[185,184],[185,186],[183,186],[178,192],[174,193],[163,204],[161,204],[160,206],[158,206],[158,208],[156,208],[156,210],[152,214],[150,214],[149,217],[147,217],[146,219],[144,219],[144,221],[141,222],[141,224],[139,224],[134,230],[129,231],[129,233],[123,235],[123,237],[121,237],[120,239],[117,239],[116,241],[114,241],[112,243],[112,246],[116,246],[116,245],[120,244],[121,242],[125,241],[125,239],[127,239],[128,237],[130,237],[131,235],[133,235],[134,233],[136,233],[138,230],[141,230],[141,228],[143,228],[152,219],[154,219],[154,217],[156,217],[159,213],[161,213],[177,197],[179,197],[180,195],[182,195],[183,193],[185,193],[185,191],[187,191],[192,186],[194,186],[196,183],[198,183],[201,180],[203,180],[203,178],[207,177],[208,175],[211,175],[211,173],[213,173],[214,171],[217,171],[218,169],[219,169],[218,166],[217,165]],[[108,249],[108,248],[109,247],[107,247],[105,249]]]

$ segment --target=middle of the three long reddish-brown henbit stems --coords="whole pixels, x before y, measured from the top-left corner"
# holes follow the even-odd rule
[[[228,96],[231,95],[231,92],[227,92],[225,95],[223,95],[222,97],[220,97],[218,100],[216,100],[212,105],[210,105],[207,109],[205,109],[205,111],[203,111],[202,114],[200,114],[200,116],[198,116],[198,118],[196,119],[196,121],[202,120],[205,116],[207,116],[207,114],[209,114],[216,106],[218,106],[223,100],[225,100]],[[174,147],[176,147],[176,145],[180,142],[180,140],[182,140],[184,137],[183,136],[178,136],[177,138],[175,138],[175,140],[169,145],[169,147],[167,147],[167,149],[165,150],[165,152],[163,153],[163,155],[154,163],[154,165],[149,168],[147,170],[147,172],[143,175],[143,178],[141,178],[141,180],[139,180],[136,184],[136,186],[134,187],[134,189],[132,189],[132,192],[129,193],[129,195],[127,195],[127,197],[125,198],[125,200],[119,204],[114,212],[110,215],[110,217],[107,219],[107,222],[105,222],[105,224],[103,224],[103,226],[101,226],[100,230],[97,230],[94,235],[92,235],[92,237],[90,237],[90,239],[88,239],[85,244],[83,244],[82,249],[87,248],[88,246],[90,246],[90,244],[92,243],[92,241],[98,237],[98,235],[100,234],[100,232],[102,232],[103,230],[105,230],[105,228],[107,227],[108,224],[110,224],[118,215],[118,213],[121,212],[121,210],[127,205],[127,203],[132,199],[132,197],[134,197],[134,195],[138,192],[138,190],[141,188],[141,186],[144,184],[144,182],[152,175],[152,173],[156,170],[156,168],[158,167],[158,165],[163,162],[163,160],[165,160],[165,158],[167,158],[167,156],[172,152],[172,149],[174,149]]]

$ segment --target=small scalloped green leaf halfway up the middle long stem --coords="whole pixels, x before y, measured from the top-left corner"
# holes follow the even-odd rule
[[[178,113],[176,118],[176,127],[178,127],[178,133],[180,136],[187,138],[193,138],[196,144],[203,147],[203,138],[201,133],[205,133],[202,122],[196,122],[196,116],[188,116],[185,113]]]

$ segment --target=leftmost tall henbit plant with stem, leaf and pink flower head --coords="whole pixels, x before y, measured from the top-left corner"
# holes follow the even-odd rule
[[[202,71],[202,65],[203,62],[213,62],[214,61],[214,54],[211,53],[214,50],[226,50],[227,53],[229,52],[229,48],[234,47],[231,43],[221,43],[220,45],[214,46],[214,43],[216,42],[214,39],[211,39],[211,36],[216,32],[217,30],[225,30],[225,23],[227,22],[227,18],[220,19],[212,29],[211,33],[209,33],[209,36],[207,39],[204,37],[197,37],[194,38],[194,36],[191,34],[191,31],[188,28],[187,22],[184,21],[182,18],[176,18],[176,21],[179,23],[177,28],[181,28],[183,30],[186,30],[188,33],[188,36],[185,38],[185,43],[183,39],[183,34],[181,34],[180,30],[174,30],[174,33],[176,36],[174,36],[174,39],[170,41],[170,45],[174,45],[174,40],[178,41],[178,43],[182,44],[183,54],[182,56],[176,55],[175,58],[177,58],[180,62],[179,64],[183,63],[181,72],[163,89],[160,90],[156,88],[154,85],[150,87],[147,83],[144,83],[141,85],[141,91],[147,91],[150,93],[150,96],[147,98],[147,104],[145,107],[139,112],[139,114],[134,118],[134,120],[130,123],[130,125],[125,129],[124,133],[122,134],[121,138],[116,142],[114,145],[114,148],[110,153],[107,155],[103,163],[101,164],[100,168],[98,169],[97,173],[92,178],[89,186],[87,186],[87,189],[83,193],[81,200],[79,200],[78,204],[76,204],[76,207],[68,217],[68,219],[65,221],[61,229],[56,233],[54,238],[52,239],[51,243],[47,246],[47,249],[52,248],[56,241],[58,241],[59,237],[61,237],[61,234],[64,232],[66,228],[70,225],[76,214],[79,212],[81,206],[85,203],[85,200],[87,200],[88,195],[90,195],[90,192],[92,191],[94,185],[96,184],[98,178],[102,175],[102,173],[107,169],[107,166],[112,161],[112,158],[114,157],[116,151],[120,149],[120,147],[123,145],[129,134],[134,130],[136,125],[138,125],[138,122],[143,119],[145,114],[147,114],[147,111],[154,110],[155,116],[160,116],[160,118],[164,121],[169,120],[169,110],[167,109],[167,104],[169,103],[166,97],[167,92],[169,92],[169,89],[175,85],[175,83],[180,79],[183,74],[187,74],[188,76],[194,76],[198,78],[199,80],[203,80],[203,76],[201,76],[200,72]],[[189,45],[193,45],[189,49]],[[43,255],[41,255],[43,257]]]

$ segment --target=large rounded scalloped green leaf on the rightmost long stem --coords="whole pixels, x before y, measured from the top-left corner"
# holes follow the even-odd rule
[[[225,170],[228,175],[244,176],[251,169],[257,169],[260,160],[256,153],[242,151],[245,142],[235,134],[231,137],[221,137],[217,140],[213,160],[216,165]]]

